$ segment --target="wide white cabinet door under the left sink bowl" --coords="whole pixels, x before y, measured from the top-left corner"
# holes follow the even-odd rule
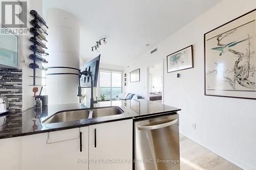
[[[88,170],[88,130],[80,128],[82,152],[79,128],[22,137],[22,170]]]

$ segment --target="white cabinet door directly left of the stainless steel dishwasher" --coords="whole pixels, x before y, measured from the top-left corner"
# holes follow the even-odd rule
[[[132,154],[132,119],[89,126],[90,170],[132,170]]]

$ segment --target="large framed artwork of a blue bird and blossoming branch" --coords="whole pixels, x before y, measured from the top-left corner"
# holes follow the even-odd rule
[[[256,100],[256,9],[204,34],[204,95]]]

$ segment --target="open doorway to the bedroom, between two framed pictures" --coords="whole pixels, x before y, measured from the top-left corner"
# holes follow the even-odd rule
[[[163,103],[163,61],[147,67],[147,99]]]

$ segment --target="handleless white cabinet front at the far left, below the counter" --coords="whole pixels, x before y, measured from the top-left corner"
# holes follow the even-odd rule
[[[0,169],[20,170],[20,137],[0,139]]]

